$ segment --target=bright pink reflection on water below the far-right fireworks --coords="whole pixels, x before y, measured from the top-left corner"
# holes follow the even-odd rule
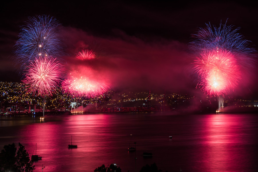
[[[237,171],[241,169],[243,159],[247,159],[248,155],[244,149],[239,149],[244,142],[241,128],[247,125],[240,119],[243,119],[243,116],[241,118],[227,114],[208,116],[205,123],[204,169],[207,171]],[[232,167],[234,168],[232,169]]]

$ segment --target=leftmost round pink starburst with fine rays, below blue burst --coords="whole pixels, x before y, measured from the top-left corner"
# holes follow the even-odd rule
[[[27,85],[26,93],[45,97],[55,92],[64,71],[62,65],[55,60],[40,56],[30,62],[22,80]]]

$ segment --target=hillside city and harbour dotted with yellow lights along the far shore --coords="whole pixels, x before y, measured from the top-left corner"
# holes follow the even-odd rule
[[[42,97],[24,94],[23,83],[0,82],[0,112],[4,114],[33,114],[43,112]],[[117,93],[108,91],[98,97],[78,99],[58,91],[47,100],[45,112],[157,112],[173,111],[184,113],[215,112],[218,99],[194,97],[187,94],[157,94],[151,91]],[[224,111],[256,112],[256,100],[224,100]],[[37,114],[38,115],[38,114]],[[40,115],[40,114],[39,114]]]

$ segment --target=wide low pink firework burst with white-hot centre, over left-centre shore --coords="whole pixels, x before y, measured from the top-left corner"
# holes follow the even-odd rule
[[[79,70],[71,71],[62,83],[64,93],[73,97],[96,97],[109,89],[109,83],[98,76],[94,76],[91,69],[78,67]]]

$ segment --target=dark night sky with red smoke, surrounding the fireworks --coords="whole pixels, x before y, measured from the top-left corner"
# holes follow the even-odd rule
[[[67,61],[80,48],[95,48],[101,55],[92,66],[120,91],[202,94],[195,89],[194,56],[187,44],[205,23],[218,26],[227,20],[254,48],[258,45],[257,3],[248,1],[7,1],[0,11],[1,81],[20,81],[12,50],[20,26],[34,15],[60,21]],[[257,71],[251,73],[232,95],[257,97]]]

